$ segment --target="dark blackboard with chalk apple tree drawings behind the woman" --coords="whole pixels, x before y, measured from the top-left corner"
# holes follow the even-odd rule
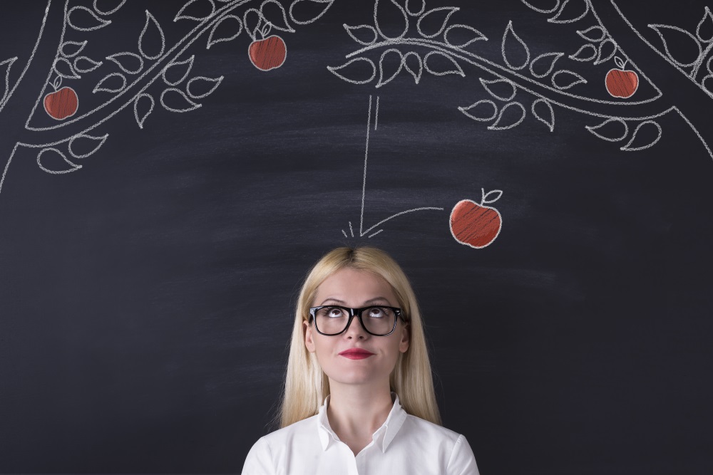
[[[4,5],[0,471],[240,472],[368,244],[482,474],[711,473],[709,7]]]

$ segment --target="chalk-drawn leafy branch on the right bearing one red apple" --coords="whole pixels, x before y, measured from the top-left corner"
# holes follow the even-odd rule
[[[492,61],[492,55],[478,54],[472,48],[488,44],[488,38],[470,25],[458,23],[449,25],[456,19],[458,9],[438,6],[428,10],[425,2],[414,6],[406,2],[406,8],[396,1],[374,2],[374,23],[349,26],[344,24],[347,34],[359,45],[359,48],[345,56],[346,62],[327,69],[338,78],[353,84],[374,83],[376,88],[399,87],[399,73],[406,71],[416,84],[423,83],[421,76],[425,70],[432,75],[456,74],[466,76],[463,66],[478,68],[485,76],[479,77],[481,87],[494,100],[477,98],[471,105],[463,105],[458,110],[466,117],[477,122],[486,122],[488,129],[504,131],[513,129],[527,118],[528,110],[535,120],[541,122],[552,132],[555,127],[555,108],[572,110],[595,119],[587,128],[595,137],[609,142],[625,142],[620,150],[626,152],[646,150],[661,138],[660,118],[668,113],[676,113],[697,135],[698,139],[713,158],[709,143],[713,141],[713,132],[709,127],[701,132],[682,111],[684,105],[672,103],[662,90],[637,67],[635,61],[627,56],[622,46],[612,37],[605,23],[595,11],[591,0],[555,0],[553,6],[541,8],[521,0],[528,9],[548,15],[547,21],[557,28],[558,24],[582,24],[576,30],[576,37],[585,43],[576,45],[571,53],[553,51],[541,53],[534,59],[530,56],[528,38],[517,33],[513,21],[508,21],[500,41],[501,62]],[[695,33],[679,28],[652,24],[650,28],[662,39],[660,51],[630,24],[621,13],[616,1],[610,0],[597,4],[598,10],[607,11],[607,21],[623,23],[635,33],[645,46],[656,51],[670,66],[678,68],[691,80],[691,83],[713,98],[713,15],[709,8],[704,9]],[[391,36],[384,34],[379,24],[379,12],[386,11],[399,18],[395,32]],[[416,17],[415,21],[414,18]],[[426,21],[430,24],[425,27]],[[415,28],[410,28],[416,24]],[[434,26],[435,25],[435,26]],[[393,25],[391,25],[393,26]],[[403,28],[402,28],[403,26]],[[453,29],[451,29],[453,28]],[[468,41],[454,42],[448,33],[459,28],[461,33],[472,35]],[[394,31],[394,30],[391,30]],[[687,38],[693,58],[673,58],[668,48],[668,38],[674,34]],[[628,39],[628,38],[627,38]],[[633,49],[638,45],[630,45]],[[414,47],[419,47],[416,51]],[[423,49],[430,50],[422,53]],[[373,57],[379,53],[378,60]],[[432,67],[426,58],[447,58],[452,66],[440,70]],[[371,57],[370,57],[371,56]],[[560,68],[563,56],[573,62],[572,66]],[[399,59],[401,60],[399,62]],[[389,61],[386,61],[389,60]],[[613,61],[617,68],[612,68]],[[440,63],[443,64],[443,61]],[[625,65],[630,65],[628,69]],[[578,66],[579,65],[579,66]],[[604,68],[600,77],[605,78],[605,88],[601,97],[592,97],[590,89],[582,86],[588,79],[578,71],[578,67]],[[684,69],[685,68],[685,69]],[[374,82],[374,80],[376,81]],[[496,85],[511,84],[512,90],[503,92]],[[637,93],[641,83],[647,85],[646,93]],[[530,96],[530,107],[526,107],[525,95],[513,101],[515,93],[521,91]],[[635,95],[636,93],[636,95]],[[697,107],[698,104],[694,105]],[[607,135],[612,127],[603,125],[623,124],[612,135]],[[630,135],[630,131],[632,131]],[[638,133],[637,133],[638,131]],[[621,135],[620,132],[624,132]]]

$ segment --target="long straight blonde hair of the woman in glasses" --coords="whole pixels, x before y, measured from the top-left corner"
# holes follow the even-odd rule
[[[324,398],[329,395],[329,378],[319,367],[314,353],[309,353],[304,346],[303,322],[309,320],[309,307],[312,306],[319,284],[344,267],[376,273],[394,289],[399,307],[408,323],[410,343],[406,353],[399,355],[396,367],[391,372],[391,390],[399,395],[399,402],[406,412],[441,424],[421,313],[409,279],[399,264],[380,249],[339,247],[314,264],[299,292],[289,345],[282,408],[279,412],[280,427],[287,427],[317,414]]]

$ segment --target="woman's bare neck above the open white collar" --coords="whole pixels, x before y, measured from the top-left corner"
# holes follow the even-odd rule
[[[389,417],[394,401],[389,382],[373,385],[341,385],[329,382],[329,425],[342,442],[358,454]]]

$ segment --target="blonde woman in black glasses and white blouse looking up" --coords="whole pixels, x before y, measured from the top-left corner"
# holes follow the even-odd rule
[[[242,474],[478,475],[466,439],[440,422],[406,275],[379,249],[334,249],[299,293],[282,429]]]

